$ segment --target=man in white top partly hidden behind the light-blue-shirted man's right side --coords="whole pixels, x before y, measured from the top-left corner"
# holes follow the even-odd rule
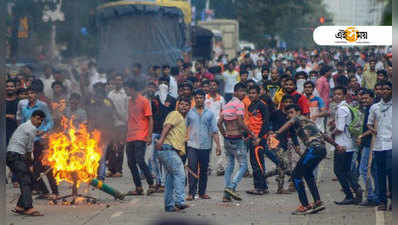
[[[224,98],[218,93],[219,82],[217,80],[210,81],[210,89],[209,94],[206,95],[205,99],[205,108],[210,110],[215,118],[216,121],[220,118],[220,113],[222,108],[225,105]],[[223,138],[220,138],[220,143],[223,146]],[[211,170],[215,170],[217,176],[224,175],[224,164],[225,164],[225,157],[217,156],[215,151],[216,145],[213,143],[213,149],[210,155],[210,166]]]

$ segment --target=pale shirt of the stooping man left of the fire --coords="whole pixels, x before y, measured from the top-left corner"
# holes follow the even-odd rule
[[[33,126],[30,120],[21,124],[11,136],[7,146],[8,152],[16,152],[25,155],[27,152],[33,151],[33,143],[35,140],[37,128]]]

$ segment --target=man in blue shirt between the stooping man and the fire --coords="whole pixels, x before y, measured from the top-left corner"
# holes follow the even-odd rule
[[[29,121],[30,118],[32,117],[32,113],[36,110],[41,110],[45,114],[45,118],[43,120],[43,123],[40,125],[40,127],[37,129],[36,132],[36,137],[34,138],[34,147],[33,147],[33,156],[34,156],[34,161],[33,161],[33,168],[34,168],[34,173],[33,177],[34,180],[40,176],[41,172],[44,172],[46,168],[44,168],[41,160],[42,160],[42,152],[45,149],[44,144],[42,143],[42,137],[45,135],[47,132],[49,132],[53,128],[53,120],[51,117],[50,110],[47,106],[46,103],[38,100],[38,92],[40,90],[37,90],[37,88],[30,88],[28,89],[28,99],[26,100],[21,100],[18,103],[18,111],[17,111],[17,121],[19,124],[25,123],[26,121]],[[51,186],[52,193],[55,195],[58,195],[58,187],[57,183],[54,179],[54,176],[52,175],[51,172],[47,173],[48,181]],[[39,198],[48,198],[49,197],[49,191],[47,190],[46,185],[42,180],[35,182],[33,184],[34,190],[40,192]]]

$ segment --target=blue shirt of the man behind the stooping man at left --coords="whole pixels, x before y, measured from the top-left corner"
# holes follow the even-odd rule
[[[46,115],[46,118],[44,119],[43,123],[38,128],[38,130],[44,132],[50,131],[54,126],[54,122],[47,104],[40,100],[37,100],[34,106],[30,106],[29,100],[27,99],[19,101],[18,111],[17,111],[17,121],[20,121],[21,123],[27,122],[28,120],[30,120],[32,113],[36,110],[41,110]],[[35,141],[38,140],[40,140],[40,137],[35,138]]]

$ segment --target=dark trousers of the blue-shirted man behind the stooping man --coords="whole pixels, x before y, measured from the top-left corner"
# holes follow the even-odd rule
[[[35,190],[40,191],[42,194],[48,194],[50,193],[49,190],[47,190],[47,186],[44,184],[44,181],[40,179],[39,181],[36,181],[37,178],[40,177],[40,173],[45,172],[48,168],[48,166],[43,166],[42,164],[42,159],[43,159],[43,150],[44,146],[40,143],[40,141],[36,141],[34,143],[33,147],[33,187]],[[48,172],[47,174],[47,179],[50,184],[50,188],[53,194],[58,195],[58,185],[57,182],[54,178],[52,170]]]

